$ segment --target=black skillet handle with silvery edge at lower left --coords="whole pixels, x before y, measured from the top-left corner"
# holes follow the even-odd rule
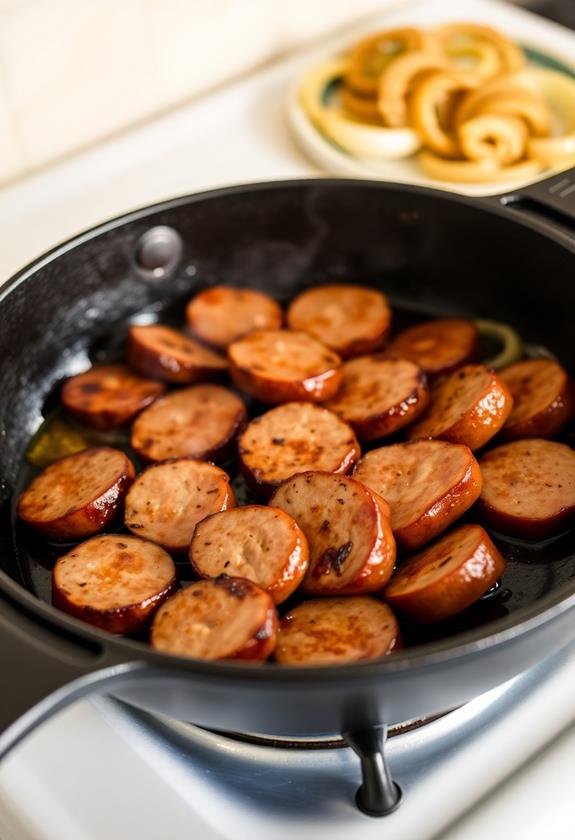
[[[59,709],[142,667],[0,599],[0,760]]]

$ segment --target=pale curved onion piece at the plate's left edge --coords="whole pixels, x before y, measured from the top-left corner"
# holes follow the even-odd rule
[[[345,59],[335,58],[314,67],[303,79],[299,101],[316,128],[358,158],[395,160],[421,148],[419,135],[411,128],[358,122],[349,119],[340,108],[323,102],[326,86],[341,79],[346,66]]]

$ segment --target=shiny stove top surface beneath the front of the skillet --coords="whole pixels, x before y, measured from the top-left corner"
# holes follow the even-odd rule
[[[536,767],[536,753],[571,723],[574,705],[571,644],[459,709],[395,728],[386,749],[403,801],[373,819],[355,808],[359,762],[337,739],[278,746],[97,698],[7,760],[0,837],[157,840],[165,828],[170,840],[375,840],[383,832],[386,840],[428,840],[528,759]],[[521,835],[538,836],[528,825]]]

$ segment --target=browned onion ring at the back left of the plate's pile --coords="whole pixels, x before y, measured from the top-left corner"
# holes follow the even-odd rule
[[[430,33],[414,27],[369,35],[350,51],[345,83],[362,96],[375,97],[379,77],[392,59],[405,52],[428,49],[432,43]]]

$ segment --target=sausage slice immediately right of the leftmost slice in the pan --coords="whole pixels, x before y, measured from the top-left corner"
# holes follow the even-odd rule
[[[177,553],[188,550],[198,522],[234,505],[227,473],[180,458],[140,473],[126,496],[124,521],[137,536]]]

